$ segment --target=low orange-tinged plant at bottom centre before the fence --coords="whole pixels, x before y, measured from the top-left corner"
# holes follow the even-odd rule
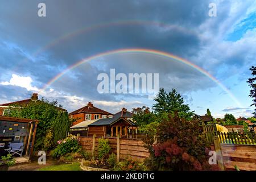
[[[146,171],[143,162],[138,162],[131,157],[127,157],[123,162],[119,162],[115,167],[115,171]]]

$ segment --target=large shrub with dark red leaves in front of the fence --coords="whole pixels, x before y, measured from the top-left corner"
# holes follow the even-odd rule
[[[176,113],[162,121],[156,132],[156,142],[148,144],[152,170],[216,170],[208,163],[210,151],[207,140],[200,136],[199,121],[187,121]]]

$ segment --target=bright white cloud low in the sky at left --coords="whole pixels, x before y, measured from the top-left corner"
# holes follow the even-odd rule
[[[1,85],[13,85],[26,88],[28,91],[38,91],[39,89],[36,86],[32,86],[32,78],[30,76],[24,77],[13,74],[10,81],[0,82]]]

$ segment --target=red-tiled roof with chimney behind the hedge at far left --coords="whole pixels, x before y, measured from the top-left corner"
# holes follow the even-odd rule
[[[31,98],[28,98],[26,100],[21,100],[21,101],[15,101],[15,102],[9,102],[6,104],[0,104],[0,116],[1,115],[6,115],[10,111],[10,107],[22,107],[24,105],[29,104],[30,102],[36,102],[38,100],[38,94],[33,93]],[[60,110],[67,111],[63,108],[58,107]]]

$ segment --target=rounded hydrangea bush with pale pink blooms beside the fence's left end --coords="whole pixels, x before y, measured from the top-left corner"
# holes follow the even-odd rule
[[[59,140],[57,143],[59,144],[52,151],[53,158],[59,158],[60,156],[63,156],[65,154],[80,151],[80,146],[76,136],[68,135],[67,138],[65,138],[64,140]]]

